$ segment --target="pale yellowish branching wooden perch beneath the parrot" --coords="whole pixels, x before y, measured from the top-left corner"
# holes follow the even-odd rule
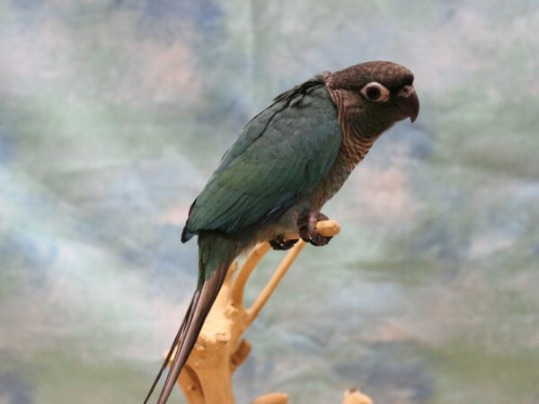
[[[316,230],[323,236],[331,237],[340,232],[340,225],[326,220],[319,222]],[[287,239],[297,238],[297,234],[287,234]],[[255,246],[239,270],[237,262],[230,267],[216,303],[178,379],[188,404],[234,404],[232,373],[251,352],[251,344],[242,338],[243,332],[256,319],[304,247],[303,240],[296,242],[249,308],[244,306],[243,291],[252,271],[270,250],[270,244],[263,242]],[[253,400],[252,404],[287,402],[287,394],[276,392]],[[353,389],[345,393],[342,403],[373,404],[367,396]]]

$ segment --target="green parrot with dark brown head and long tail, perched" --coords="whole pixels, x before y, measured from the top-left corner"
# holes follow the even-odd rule
[[[325,202],[341,188],[376,139],[420,111],[404,66],[370,61],[324,72],[278,95],[225,152],[190,206],[181,242],[198,235],[199,275],[180,329],[146,396],[172,358],[159,404],[168,400],[234,259],[258,242],[288,250],[299,239],[323,246],[316,231]]]

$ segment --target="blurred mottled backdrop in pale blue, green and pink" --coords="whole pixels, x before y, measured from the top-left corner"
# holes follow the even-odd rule
[[[411,68],[420,118],[325,207],[343,232],[248,331],[238,403],[539,402],[537,1],[2,0],[0,54],[0,402],[141,402],[226,147],[372,59]]]

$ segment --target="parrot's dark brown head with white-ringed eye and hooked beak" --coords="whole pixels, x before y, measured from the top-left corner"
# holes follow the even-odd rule
[[[372,126],[365,128],[369,135],[378,135],[402,119],[413,122],[420,112],[413,74],[393,62],[360,63],[326,75],[324,81],[349,119]]]

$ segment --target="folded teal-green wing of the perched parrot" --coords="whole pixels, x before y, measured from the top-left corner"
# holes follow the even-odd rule
[[[252,119],[190,209],[181,236],[239,233],[282,214],[330,170],[342,134],[329,93],[310,81]]]

